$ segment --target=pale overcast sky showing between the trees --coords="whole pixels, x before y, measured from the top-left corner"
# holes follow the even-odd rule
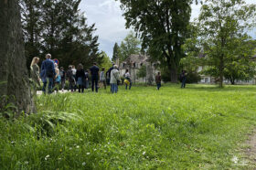
[[[256,4],[256,0],[246,0]],[[88,18],[88,23],[95,23],[99,36],[100,50],[105,51],[112,58],[112,48],[115,42],[119,43],[126,37],[129,30],[125,29],[125,20],[122,16],[120,3],[115,0],[82,0],[80,10]],[[192,5],[191,19],[199,15],[200,5]],[[255,37],[255,33],[251,33]]]

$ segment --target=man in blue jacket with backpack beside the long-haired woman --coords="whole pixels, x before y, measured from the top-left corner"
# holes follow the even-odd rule
[[[50,94],[52,92],[52,87],[53,87],[53,79],[56,75],[55,68],[54,68],[54,62],[51,60],[51,55],[47,54],[46,55],[46,60],[43,61],[42,66],[41,66],[41,78],[44,82],[43,86],[43,92],[46,93],[46,87],[48,84],[48,93]]]

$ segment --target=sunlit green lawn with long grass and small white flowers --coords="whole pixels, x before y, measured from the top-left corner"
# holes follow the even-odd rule
[[[256,125],[255,87],[123,89],[40,96],[39,113],[1,120],[1,169],[251,168],[239,149]]]

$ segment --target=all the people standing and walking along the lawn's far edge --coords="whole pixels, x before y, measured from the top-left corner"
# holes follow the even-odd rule
[[[111,85],[111,92],[117,93],[118,85],[121,82],[120,72],[118,66],[112,63],[112,67],[108,69],[105,73],[105,69],[100,69],[97,64],[94,62],[93,66],[90,69],[83,69],[83,65],[79,64],[78,69],[75,66],[70,65],[67,71],[63,67],[60,68],[57,63],[51,59],[51,55],[46,55],[46,60],[42,62],[41,69],[39,69],[37,63],[39,58],[33,58],[31,62],[31,77],[40,86],[40,80],[43,82],[43,92],[51,93],[53,90],[59,90],[59,85],[61,90],[64,90],[66,80],[69,81],[69,88],[71,92],[78,89],[79,92],[84,92],[85,89],[89,89],[90,79],[91,79],[91,90],[98,92],[99,90],[99,80],[106,90],[107,84]],[[89,74],[91,73],[91,76]],[[132,79],[129,73],[129,69],[126,69],[124,76],[125,90],[131,90],[132,88]],[[187,73],[185,70],[182,71],[180,75],[180,80],[182,82],[181,88],[186,87],[186,78]],[[155,76],[156,89],[160,90],[161,88],[161,74],[157,73]],[[48,85],[48,89],[47,89]]]

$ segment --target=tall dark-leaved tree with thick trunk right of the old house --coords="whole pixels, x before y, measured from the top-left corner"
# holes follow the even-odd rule
[[[188,34],[193,0],[121,0],[126,27],[133,27],[151,57],[166,64],[177,82],[180,59]]]

